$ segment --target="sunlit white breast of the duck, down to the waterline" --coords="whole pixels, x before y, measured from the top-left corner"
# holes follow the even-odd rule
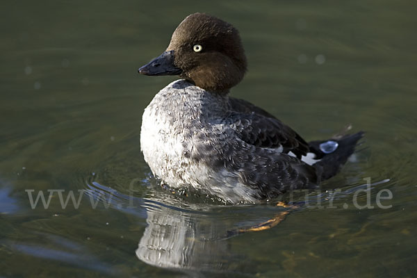
[[[242,199],[254,202],[252,189],[240,183],[236,173],[208,165],[209,157],[190,156],[206,155],[204,149],[199,149],[202,144],[198,137],[210,138],[216,148],[219,139],[216,136],[226,135],[211,119],[202,120],[205,116],[200,111],[204,109],[198,96],[198,90],[202,89],[178,88],[180,82],[175,81],[158,92],[142,116],[140,147],[153,174],[172,187],[192,186],[233,203]]]

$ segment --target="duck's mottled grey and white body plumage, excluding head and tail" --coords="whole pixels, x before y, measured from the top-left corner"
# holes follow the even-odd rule
[[[231,203],[256,202],[316,183],[313,167],[282,153],[306,152],[304,140],[251,106],[174,81],[143,114],[145,161],[170,186],[193,186]]]

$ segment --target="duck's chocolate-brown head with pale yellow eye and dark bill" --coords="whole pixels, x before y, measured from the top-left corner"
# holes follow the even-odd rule
[[[243,79],[246,57],[239,33],[222,19],[188,15],[158,58],[140,67],[145,75],[179,75],[210,92],[227,93]]]

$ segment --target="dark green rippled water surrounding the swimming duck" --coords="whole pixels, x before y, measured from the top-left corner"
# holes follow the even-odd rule
[[[136,70],[196,11],[240,30],[249,72],[234,97],[306,140],[366,131],[366,149],[309,193],[325,208],[230,237],[283,208],[172,194],[150,174],[140,119],[173,79]],[[3,1],[0,277],[416,277],[416,11],[385,0]],[[368,177],[374,208],[359,210]],[[391,208],[376,205],[382,189]],[[78,208],[63,209],[57,191],[31,208],[41,190],[84,191]]]

